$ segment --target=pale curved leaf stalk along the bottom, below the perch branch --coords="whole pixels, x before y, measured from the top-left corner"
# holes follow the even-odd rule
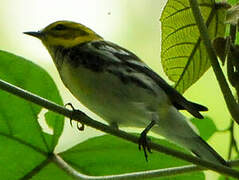
[[[125,173],[120,175],[109,175],[109,176],[87,176],[79,173],[74,168],[70,167],[61,157],[55,155],[53,157],[53,162],[60,167],[62,170],[69,173],[75,179],[83,179],[83,180],[122,180],[122,179],[146,179],[146,178],[154,178],[154,177],[165,177],[165,176],[176,176],[184,173],[192,173],[196,171],[206,170],[203,167],[199,167],[196,165],[187,165],[173,168],[165,168],[159,170],[148,170],[143,172],[133,172],[133,173]],[[239,165],[239,160],[228,162],[230,166]]]

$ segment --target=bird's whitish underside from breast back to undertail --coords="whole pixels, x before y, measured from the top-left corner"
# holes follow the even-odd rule
[[[107,72],[95,74],[81,67],[69,69],[68,64],[62,67],[61,78],[71,93],[107,122],[144,128],[154,118],[158,127],[153,131],[172,141],[196,136],[160,87],[157,86],[157,95],[153,95],[134,83],[124,84]]]

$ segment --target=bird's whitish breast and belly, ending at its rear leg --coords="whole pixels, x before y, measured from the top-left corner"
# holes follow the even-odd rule
[[[64,64],[60,75],[82,104],[110,123],[145,127],[152,120],[152,113],[169,103],[164,91],[143,74],[133,76],[152,87],[155,94],[137,83],[124,83],[109,72],[94,72],[82,66]]]

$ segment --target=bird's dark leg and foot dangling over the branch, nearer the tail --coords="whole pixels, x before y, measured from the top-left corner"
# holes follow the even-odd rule
[[[148,161],[147,150],[148,152],[151,153],[151,149],[148,144],[147,133],[155,124],[156,124],[155,120],[151,121],[151,123],[143,130],[143,132],[140,134],[140,137],[139,137],[139,150],[141,150],[141,146],[142,146],[146,161]]]

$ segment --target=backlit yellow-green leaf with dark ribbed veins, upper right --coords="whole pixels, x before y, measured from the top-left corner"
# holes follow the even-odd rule
[[[201,14],[211,39],[225,34],[228,6],[199,0]],[[215,8],[215,6],[217,8]],[[211,66],[188,0],[169,0],[161,16],[161,60],[164,72],[183,93]]]

